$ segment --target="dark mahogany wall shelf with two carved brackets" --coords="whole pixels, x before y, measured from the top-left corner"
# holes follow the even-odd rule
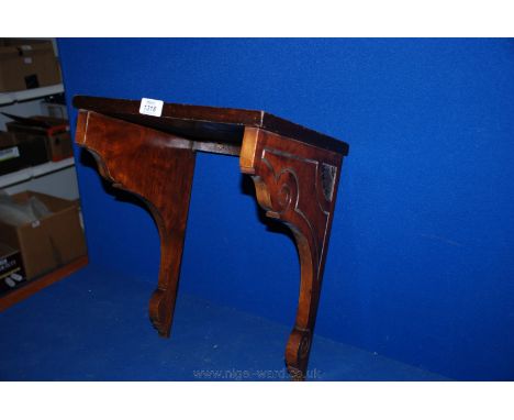
[[[317,312],[343,157],[348,145],[264,111],[75,97],[76,143],[100,174],[148,206],[160,236],[158,286],[149,317],[169,336],[197,151],[239,157],[258,203],[292,231],[301,265],[297,319],[286,346],[293,379],[304,379]]]

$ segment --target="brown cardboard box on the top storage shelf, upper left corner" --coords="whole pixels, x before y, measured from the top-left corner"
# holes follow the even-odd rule
[[[34,89],[60,82],[59,65],[52,42],[2,38],[0,92]]]

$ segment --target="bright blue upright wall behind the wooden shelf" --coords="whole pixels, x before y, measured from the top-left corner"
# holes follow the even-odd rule
[[[264,109],[347,141],[316,332],[454,378],[514,379],[513,41],[58,45],[68,101]],[[148,213],[78,174],[92,263],[155,283]],[[237,158],[199,154],[180,291],[292,327],[298,285],[294,245],[258,221]]]

